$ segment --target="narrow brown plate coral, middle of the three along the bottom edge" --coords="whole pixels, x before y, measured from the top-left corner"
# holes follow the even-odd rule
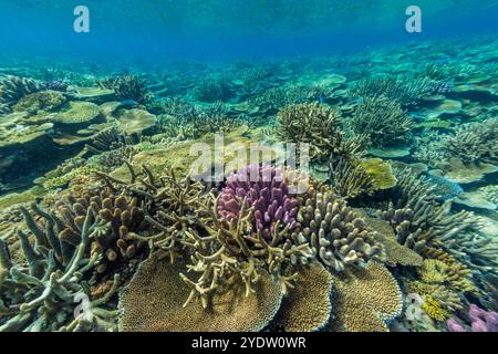
[[[332,275],[320,263],[302,269],[294,288],[282,299],[274,319],[286,332],[312,332],[322,329],[331,314]]]

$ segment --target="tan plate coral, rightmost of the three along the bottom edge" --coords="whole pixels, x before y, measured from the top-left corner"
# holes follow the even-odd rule
[[[403,310],[396,280],[375,262],[339,273],[334,278],[332,303],[331,331],[387,332],[386,322]]]

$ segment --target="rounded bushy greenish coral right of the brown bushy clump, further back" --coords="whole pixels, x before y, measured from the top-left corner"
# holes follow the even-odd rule
[[[364,98],[346,122],[353,134],[366,135],[373,147],[409,143],[412,125],[412,118],[400,104],[385,96]]]

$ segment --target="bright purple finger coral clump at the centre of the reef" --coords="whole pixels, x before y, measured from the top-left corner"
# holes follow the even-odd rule
[[[227,221],[240,217],[243,199],[253,208],[253,231],[270,238],[278,225],[295,227],[298,200],[284,181],[284,173],[272,166],[249,165],[227,177],[218,200],[218,214]]]

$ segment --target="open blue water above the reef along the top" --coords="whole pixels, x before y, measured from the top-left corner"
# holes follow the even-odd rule
[[[90,10],[90,33],[73,9]],[[405,9],[423,11],[407,33]],[[2,0],[0,52],[98,62],[239,59],[369,50],[497,34],[498,0]]]

